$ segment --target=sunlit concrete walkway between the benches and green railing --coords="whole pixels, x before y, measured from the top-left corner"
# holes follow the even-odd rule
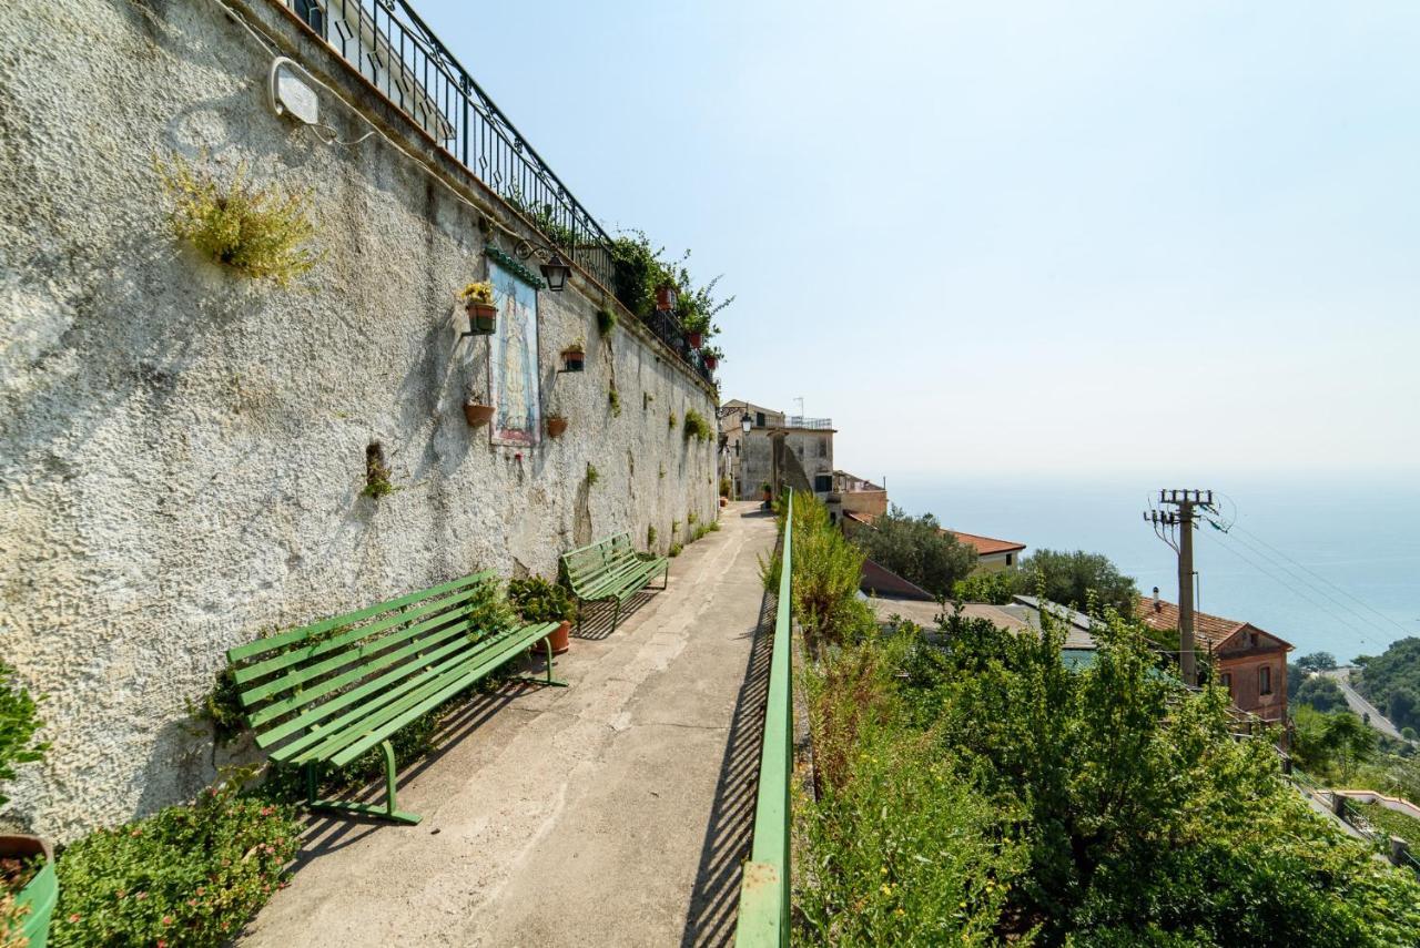
[[[413,827],[315,820],[244,945],[693,945],[733,938],[763,721],[754,504],[615,633],[446,722],[400,778]],[[575,634],[575,633],[574,633]]]

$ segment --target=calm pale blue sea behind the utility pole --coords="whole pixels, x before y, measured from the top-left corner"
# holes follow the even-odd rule
[[[1145,522],[1159,488],[1211,488],[1194,534],[1197,607],[1348,663],[1420,636],[1420,487],[1403,478],[888,478],[892,504],[1031,549],[1109,556],[1143,593],[1177,602],[1174,551]]]

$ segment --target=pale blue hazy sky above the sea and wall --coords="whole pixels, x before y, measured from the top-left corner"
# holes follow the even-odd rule
[[[1420,474],[1420,6],[416,9],[863,474]]]

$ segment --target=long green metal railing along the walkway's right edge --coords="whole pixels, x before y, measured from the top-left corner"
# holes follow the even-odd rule
[[[794,771],[794,673],[790,653],[790,578],[794,545],[794,492],[784,518],[780,597],[770,656],[770,694],[764,707],[760,792],[754,803],[754,846],[740,883],[741,948],[790,944],[790,779]]]

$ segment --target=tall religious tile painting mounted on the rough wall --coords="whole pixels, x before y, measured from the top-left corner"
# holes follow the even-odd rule
[[[498,304],[498,331],[488,360],[493,443],[532,446],[541,439],[542,399],[537,366],[537,290],[488,261]]]

